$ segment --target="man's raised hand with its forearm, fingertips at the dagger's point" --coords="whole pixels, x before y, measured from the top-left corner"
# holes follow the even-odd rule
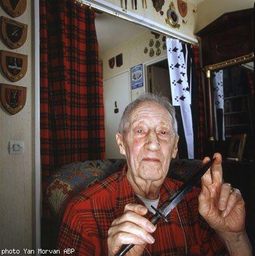
[[[208,169],[201,179],[198,211],[222,238],[229,254],[251,255],[245,232],[245,202],[239,190],[222,182],[222,155],[215,153],[214,158],[211,170]],[[204,158],[203,165],[209,160],[209,157]]]

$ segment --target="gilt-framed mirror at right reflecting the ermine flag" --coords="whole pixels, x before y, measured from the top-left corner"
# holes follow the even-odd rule
[[[254,53],[203,68],[208,95],[208,126],[210,147],[229,155],[231,138],[248,136],[244,161],[252,156],[253,137],[253,72]]]

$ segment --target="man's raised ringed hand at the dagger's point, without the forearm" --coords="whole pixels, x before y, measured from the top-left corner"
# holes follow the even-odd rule
[[[198,210],[208,224],[218,232],[245,230],[245,202],[236,188],[222,183],[222,156],[214,154],[215,161],[201,179]],[[209,162],[206,157],[203,165]]]

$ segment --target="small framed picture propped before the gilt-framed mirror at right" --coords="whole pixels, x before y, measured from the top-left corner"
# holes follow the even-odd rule
[[[242,161],[243,149],[245,148],[246,134],[233,135],[231,137],[229,146],[229,158],[238,159]]]

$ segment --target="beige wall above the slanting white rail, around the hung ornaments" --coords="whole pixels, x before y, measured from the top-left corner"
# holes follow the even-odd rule
[[[110,2],[111,4],[117,5],[117,7],[121,7],[121,0],[106,0],[107,2]],[[122,0],[124,3],[124,0]],[[168,24],[166,24],[166,17],[167,17],[167,10],[169,9],[170,2],[173,2],[175,5],[176,12],[178,11],[177,6],[177,0],[172,1],[165,1],[165,4],[162,7],[162,11],[164,12],[164,15],[160,15],[159,12],[156,12],[155,8],[153,7],[153,2],[151,0],[147,0],[147,9],[142,8],[142,0],[138,0],[138,10],[132,9],[131,0],[127,0],[127,10],[133,13],[136,13],[137,15],[141,15],[145,18],[148,18],[149,20],[155,21],[155,23],[161,24],[162,26],[170,27]],[[187,16],[184,18],[185,21],[187,21],[187,24],[183,24],[182,20],[183,18],[181,15],[179,15],[179,23],[180,28],[175,29],[178,32],[181,32],[183,34],[189,35],[190,37],[196,38],[194,36],[194,29],[195,29],[195,20],[197,15],[193,12],[193,9],[195,9],[195,5],[192,2],[188,2],[187,5]]]

